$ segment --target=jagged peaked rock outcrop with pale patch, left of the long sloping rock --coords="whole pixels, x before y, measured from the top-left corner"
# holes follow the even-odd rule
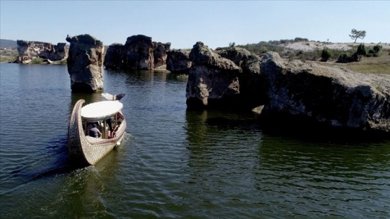
[[[187,107],[235,106],[240,94],[241,68],[232,60],[214,53],[203,42],[196,42],[189,54],[192,67],[186,88]]]

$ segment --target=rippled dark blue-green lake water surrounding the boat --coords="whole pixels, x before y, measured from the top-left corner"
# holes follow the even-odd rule
[[[187,111],[175,74],[105,70],[127,134],[72,170],[72,106],[101,95],[72,94],[62,65],[0,72],[0,218],[390,218],[389,140],[267,133],[251,113]]]

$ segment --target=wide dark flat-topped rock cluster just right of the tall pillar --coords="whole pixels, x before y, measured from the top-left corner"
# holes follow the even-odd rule
[[[151,70],[166,65],[166,52],[171,43],[152,42],[146,35],[132,35],[126,43],[109,46],[104,58],[108,69]]]

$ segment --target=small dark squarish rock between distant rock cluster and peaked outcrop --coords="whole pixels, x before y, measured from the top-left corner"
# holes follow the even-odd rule
[[[192,63],[189,60],[189,51],[172,49],[167,52],[166,70],[173,73],[188,74]]]

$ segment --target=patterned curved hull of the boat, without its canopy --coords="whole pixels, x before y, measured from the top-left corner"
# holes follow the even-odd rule
[[[76,167],[95,165],[95,163],[120,143],[126,129],[126,120],[123,120],[114,138],[102,139],[86,136],[81,119],[81,108],[84,102],[84,99],[80,99],[75,104],[70,115],[68,128],[69,159],[71,165]]]

